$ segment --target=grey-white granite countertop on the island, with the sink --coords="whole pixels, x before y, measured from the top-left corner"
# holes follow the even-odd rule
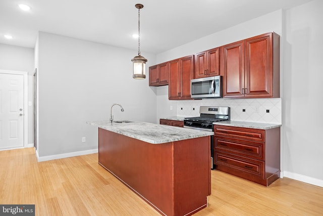
[[[139,121],[130,123],[111,123],[109,120],[106,120],[87,121],[86,123],[151,144],[169,143],[214,135],[213,132],[200,131],[197,129]]]

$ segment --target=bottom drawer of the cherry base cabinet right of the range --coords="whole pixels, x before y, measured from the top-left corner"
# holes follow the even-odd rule
[[[264,161],[238,157],[225,153],[215,152],[214,163],[230,166],[232,169],[239,169],[250,174],[263,176],[264,178]]]

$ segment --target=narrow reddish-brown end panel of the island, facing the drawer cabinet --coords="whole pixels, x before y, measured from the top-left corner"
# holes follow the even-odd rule
[[[210,154],[210,137],[174,142],[175,215],[206,207],[211,194]]]

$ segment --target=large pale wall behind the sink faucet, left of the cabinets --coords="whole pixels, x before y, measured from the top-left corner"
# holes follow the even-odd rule
[[[115,119],[155,122],[155,89],[132,78],[135,50],[44,32],[37,45],[39,157],[97,149],[97,128],[85,122],[108,120],[114,103],[125,110],[114,106]]]

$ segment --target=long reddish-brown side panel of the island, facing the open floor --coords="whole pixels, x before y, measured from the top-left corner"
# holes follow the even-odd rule
[[[98,160],[157,211],[173,215],[173,143],[150,144],[99,128]]]

